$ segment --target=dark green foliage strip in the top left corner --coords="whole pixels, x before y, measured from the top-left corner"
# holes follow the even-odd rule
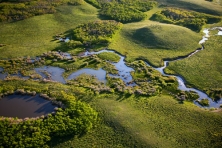
[[[0,3],[0,22],[16,21],[29,18],[31,16],[55,13],[55,7],[64,3],[81,5],[83,0],[17,0]]]

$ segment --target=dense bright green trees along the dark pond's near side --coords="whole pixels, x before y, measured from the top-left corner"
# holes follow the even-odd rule
[[[71,101],[66,109],[41,118],[0,118],[0,147],[47,147],[52,137],[81,135],[97,120],[97,113],[85,103]]]

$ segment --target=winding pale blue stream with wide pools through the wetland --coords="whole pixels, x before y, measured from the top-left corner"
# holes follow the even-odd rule
[[[215,27],[215,28],[212,28],[212,29],[204,29],[203,33],[205,35],[203,36],[203,38],[199,42],[199,44],[203,44],[205,41],[207,41],[208,38],[210,37],[210,35],[209,35],[210,30],[215,30],[215,29],[218,30],[218,34],[216,34],[216,35],[222,35],[222,31],[221,31],[220,27]],[[189,58],[192,55],[196,54],[197,52],[199,52],[203,49],[204,49],[203,47],[201,49],[197,49],[196,51],[194,51],[193,53],[189,54],[188,56],[186,56],[184,58]],[[86,51],[82,56],[85,57],[85,56],[90,56],[90,55],[93,55],[93,54],[99,54],[99,53],[102,53],[102,52],[115,52],[115,51],[112,51],[112,50],[101,50],[99,52]],[[132,78],[130,72],[134,71],[134,70],[131,67],[128,67],[125,64],[125,61],[124,61],[125,57],[124,56],[121,56],[120,54],[118,54],[118,55],[120,56],[120,61],[117,62],[117,63],[114,63],[114,62],[112,63],[116,67],[116,69],[118,70],[118,75],[111,75],[111,74],[109,74],[109,75],[112,76],[112,77],[121,78],[128,85],[129,82],[133,81],[133,78]],[[67,54],[67,57],[70,57],[70,55]],[[176,59],[176,60],[182,60],[184,58],[180,58],[180,59]],[[175,60],[173,60],[173,61],[175,61]],[[195,89],[195,88],[187,88],[186,85],[185,85],[184,80],[182,79],[182,77],[165,74],[164,69],[167,67],[169,62],[171,62],[171,61],[164,61],[164,66],[163,67],[159,67],[159,68],[154,68],[153,67],[153,68],[158,70],[164,76],[174,76],[174,77],[176,77],[176,79],[178,81],[178,84],[179,84],[178,89],[180,89],[182,91],[196,92],[199,95],[199,100],[201,100],[201,99],[208,99],[209,100],[209,103],[210,103],[209,107],[215,107],[215,108],[220,107],[220,104],[222,104],[222,99],[220,99],[218,102],[214,102],[204,92],[202,92],[198,89]],[[148,63],[147,63],[147,65],[150,66]],[[0,72],[2,70],[3,69],[0,68]],[[61,83],[64,83],[64,84],[66,83],[65,79],[62,76],[62,74],[64,73],[65,70],[62,69],[62,68],[53,67],[53,66],[43,66],[43,67],[40,67],[40,68],[35,68],[35,71],[37,73],[39,73],[43,78],[51,79],[53,81],[58,81],[58,82],[61,82]],[[46,73],[48,73],[50,75],[50,78],[49,78],[49,75],[46,75]],[[106,71],[104,71],[103,69],[94,70],[94,69],[89,69],[89,68],[83,68],[83,69],[80,69],[80,70],[72,73],[71,75],[68,76],[67,80],[75,79],[77,76],[79,76],[80,74],[83,74],[83,73],[90,74],[90,75],[95,75],[98,78],[98,80],[106,82]],[[5,75],[4,74],[1,75],[1,73],[0,73],[0,79],[2,79],[2,77],[5,77]],[[133,84],[130,84],[130,85],[134,86],[136,84],[133,83]],[[196,104],[197,106],[200,106],[199,103],[197,103],[195,101],[194,101],[194,104]]]

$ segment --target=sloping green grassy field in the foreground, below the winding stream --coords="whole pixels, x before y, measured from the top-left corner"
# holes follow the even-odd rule
[[[91,102],[102,121],[81,138],[60,141],[59,147],[213,147],[222,118],[179,104],[170,96],[151,98],[99,95]],[[216,127],[216,128],[215,128]],[[54,143],[55,144],[55,143]]]

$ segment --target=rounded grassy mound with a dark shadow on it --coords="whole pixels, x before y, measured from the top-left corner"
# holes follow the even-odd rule
[[[184,56],[200,47],[201,35],[191,30],[153,21],[130,23],[109,45],[123,55],[126,60],[142,58],[152,65],[161,66],[162,59]]]

